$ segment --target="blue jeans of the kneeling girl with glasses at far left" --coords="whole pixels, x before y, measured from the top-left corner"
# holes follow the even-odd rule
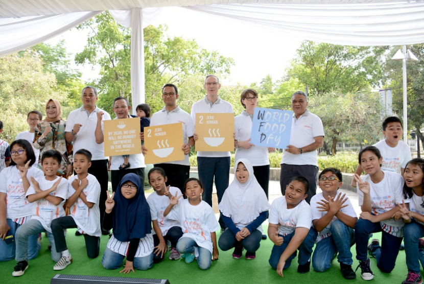
[[[12,219],[6,219],[10,232],[15,237],[15,241],[9,245],[0,239],[0,262],[11,261],[15,258],[16,252],[16,230],[22,226],[12,221]],[[28,238],[28,259],[37,257],[38,251],[41,248],[41,244],[37,241],[38,234],[30,235]]]

